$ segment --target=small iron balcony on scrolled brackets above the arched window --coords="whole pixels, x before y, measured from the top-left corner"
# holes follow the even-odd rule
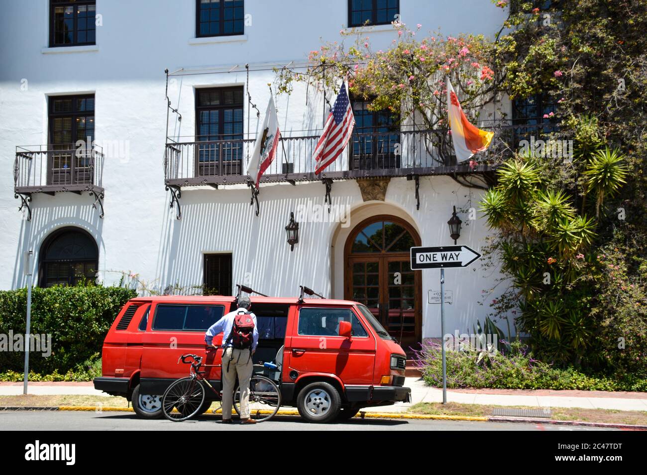
[[[101,147],[76,148],[74,145],[22,145],[16,147],[14,196],[21,198],[31,220],[30,201],[34,193],[56,195],[87,191],[94,196],[93,207],[101,207],[104,217],[102,174],[104,154]]]

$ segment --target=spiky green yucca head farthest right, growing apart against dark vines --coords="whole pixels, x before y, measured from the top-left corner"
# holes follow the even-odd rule
[[[596,193],[595,215],[600,215],[600,206],[604,198],[611,198],[625,184],[627,167],[624,165],[624,155],[618,149],[599,150],[591,156],[584,176],[586,177],[586,192]]]

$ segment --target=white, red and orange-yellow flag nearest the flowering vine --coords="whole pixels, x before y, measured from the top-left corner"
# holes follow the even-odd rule
[[[481,131],[467,121],[449,78],[447,78],[447,111],[458,162],[463,162],[475,153],[487,149],[492,142],[494,132]]]

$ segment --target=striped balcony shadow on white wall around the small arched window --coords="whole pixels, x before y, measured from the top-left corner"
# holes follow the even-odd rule
[[[76,203],[61,201],[78,200]],[[41,245],[55,229],[60,227],[80,227],[85,229],[96,241],[99,248],[99,269],[105,268],[105,244],[102,238],[104,220],[99,217],[100,211],[92,206],[93,199],[83,193],[82,196],[34,196],[31,202],[32,220],[21,221],[16,246],[16,261],[12,288],[27,286],[25,275],[25,252],[33,251],[33,282],[38,284],[38,262]]]

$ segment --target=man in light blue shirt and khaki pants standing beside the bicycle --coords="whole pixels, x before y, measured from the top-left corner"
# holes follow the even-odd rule
[[[252,377],[254,368],[252,355],[256,352],[256,345],[258,344],[256,315],[254,313],[248,314],[254,321],[250,348],[234,348],[234,337],[232,335],[232,329],[236,326],[236,316],[247,315],[251,306],[252,302],[248,297],[240,297],[237,310],[227,313],[223,318],[215,322],[204,335],[207,346],[217,349],[218,347],[212,342],[215,335],[223,333],[223,348],[225,348],[225,352],[223,352],[223,423],[225,424],[232,422],[232,400],[236,375],[238,375],[238,382],[241,387],[241,423],[256,424],[256,421],[249,417],[249,380]]]

